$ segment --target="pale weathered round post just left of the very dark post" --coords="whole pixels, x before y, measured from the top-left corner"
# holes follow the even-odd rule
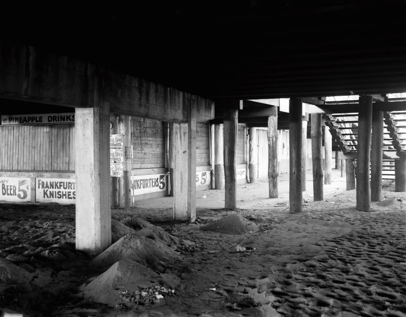
[[[278,112],[268,116],[269,198],[278,198]]]

